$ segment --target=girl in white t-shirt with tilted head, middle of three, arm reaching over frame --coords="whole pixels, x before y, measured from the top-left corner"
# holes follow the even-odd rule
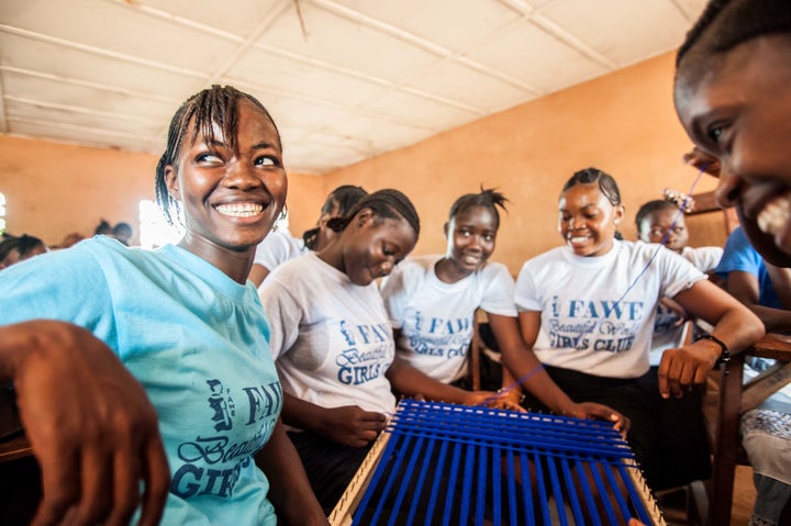
[[[467,193],[450,206],[445,223],[447,249],[443,256],[409,258],[385,281],[381,292],[394,329],[397,351],[409,365],[444,383],[470,389],[468,357],[475,312],[482,309],[501,352],[524,363],[539,365],[525,347],[513,303],[514,281],[504,265],[489,260],[494,251],[505,197],[494,190]],[[500,367],[500,365],[497,365]],[[514,404],[524,387],[557,414],[599,417],[619,429],[628,422],[610,407],[575,403],[544,370],[512,385],[500,371],[490,374],[486,390],[506,388]]]

